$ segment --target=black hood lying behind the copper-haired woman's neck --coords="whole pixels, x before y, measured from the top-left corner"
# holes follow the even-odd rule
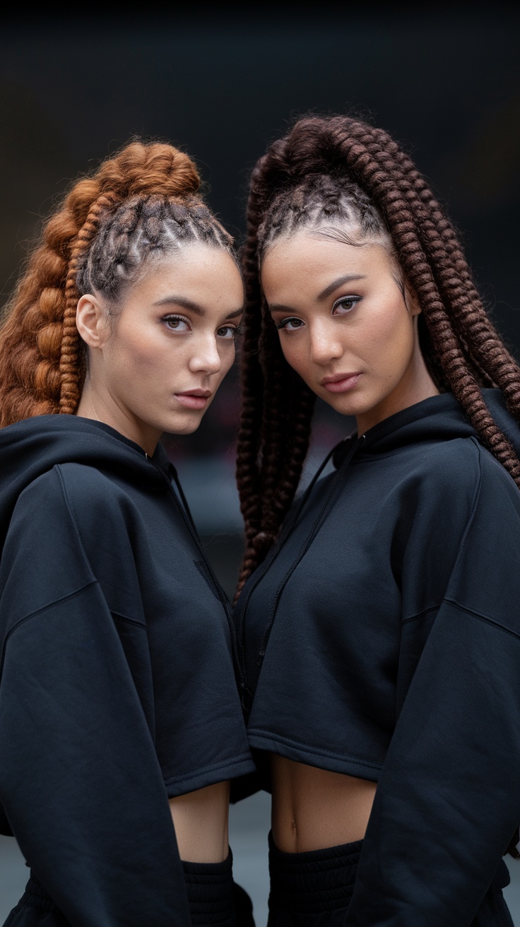
[[[153,458],[118,431],[76,415],[37,415],[0,429],[0,552],[19,495],[56,464],[86,464],[150,488],[164,486],[169,461],[159,443]],[[153,465],[155,464],[155,465]]]

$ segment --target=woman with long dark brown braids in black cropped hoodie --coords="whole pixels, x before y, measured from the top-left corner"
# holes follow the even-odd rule
[[[520,820],[520,370],[386,132],[251,179],[235,609],[270,927],[505,927]],[[356,420],[293,504],[315,397]]]

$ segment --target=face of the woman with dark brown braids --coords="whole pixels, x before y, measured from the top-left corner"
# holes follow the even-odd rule
[[[379,244],[299,232],[276,241],[261,285],[287,363],[362,434],[438,390],[419,348],[411,293]]]

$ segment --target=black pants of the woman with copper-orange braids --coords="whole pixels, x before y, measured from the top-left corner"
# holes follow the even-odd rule
[[[251,900],[233,881],[233,857],[223,863],[183,863],[193,927],[255,927]],[[31,873],[4,927],[70,927],[42,883]]]

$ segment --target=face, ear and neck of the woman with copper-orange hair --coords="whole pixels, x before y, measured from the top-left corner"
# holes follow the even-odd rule
[[[195,431],[234,362],[243,301],[233,258],[201,244],[152,264],[113,319],[103,300],[82,297],[77,324],[90,351],[78,414],[148,453],[163,432]]]

